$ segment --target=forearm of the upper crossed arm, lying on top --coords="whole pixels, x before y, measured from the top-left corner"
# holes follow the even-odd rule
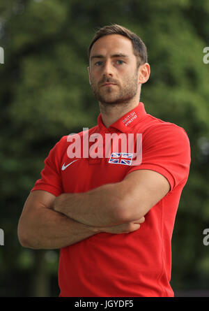
[[[89,226],[122,224],[119,184],[108,184],[78,194],[61,194],[54,201],[54,210]]]

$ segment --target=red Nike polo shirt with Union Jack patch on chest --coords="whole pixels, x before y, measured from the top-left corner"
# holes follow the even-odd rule
[[[140,169],[164,175],[171,189],[150,209],[139,230],[122,234],[98,233],[62,248],[60,296],[173,296],[169,284],[171,236],[180,195],[189,175],[191,159],[187,134],[180,126],[146,113],[141,102],[109,128],[104,126],[99,115],[97,126],[79,133],[81,143],[85,135],[95,133],[102,137],[106,133],[141,133],[141,164],[132,165],[132,159],[128,157],[121,161],[124,154],[120,150],[120,159],[117,156],[112,157],[112,161],[110,157],[88,158],[83,154],[86,147],[85,150],[82,147],[82,158],[77,154],[76,158],[70,159],[72,141],[63,136],[49,152],[41,179],[31,191],[45,190],[55,196],[63,192],[84,192],[107,183],[120,182],[128,173]],[[88,147],[92,145],[90,142]]]

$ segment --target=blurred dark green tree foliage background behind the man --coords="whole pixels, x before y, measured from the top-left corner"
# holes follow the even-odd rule
[[[208,0],[7,0],[0,3],[0,296],[59,295],[59,252],[22,248],[17,223],[49,150],[61,136],[97,123],[86,50],[95,31],[111,23],[147,45],[147,113],[189,136],[192,164],[173,231],[171,285],[176,292],[208,289]]]

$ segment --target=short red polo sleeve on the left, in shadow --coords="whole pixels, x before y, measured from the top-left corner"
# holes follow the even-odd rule
[[[59,196],[63,193],[60,173],[60,154],[61,154],[61,140],[50,150],[48,157],[45,159],[45,167],[42,169],[41,178],[36,181],[34,190],[45,190]]]

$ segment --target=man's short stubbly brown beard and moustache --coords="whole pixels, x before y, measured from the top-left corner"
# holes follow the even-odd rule
[[[101,85],[105,82],[112,82],[116,85],[111,87],[102,87]],[[123,81],[123,85],[120,85],[118,81],[111,78],[103,78],[102,81],[95,84],[94,80],[91,79],[91,90],[102,106],[117,106],[127,105],[136,96],[138,91],[138,75],[135,71],[134,75],[130,78],[126,78]]]

